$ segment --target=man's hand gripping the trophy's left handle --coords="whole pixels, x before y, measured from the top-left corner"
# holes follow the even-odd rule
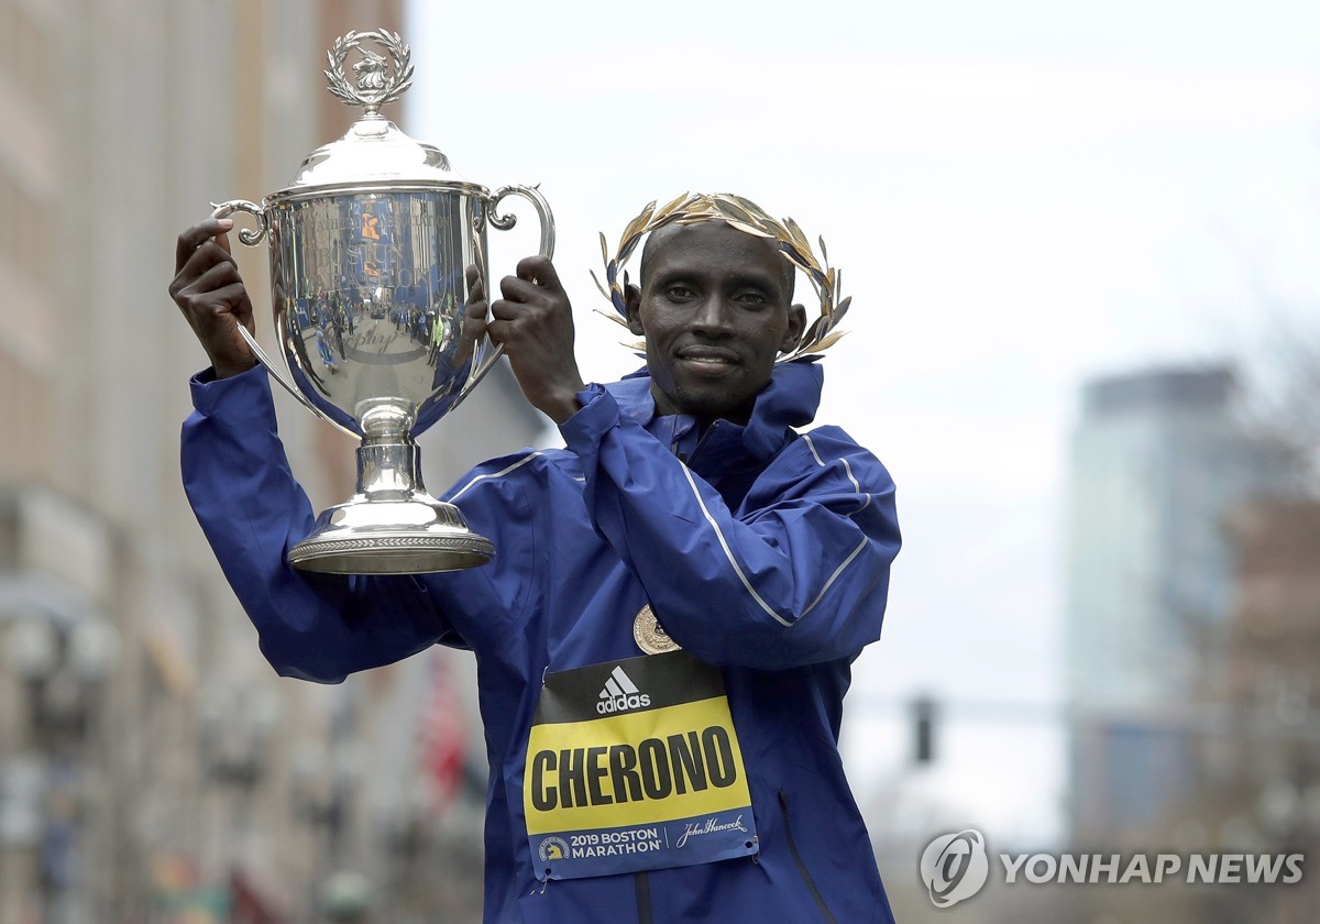
[[[227,231],[232,227],[232,219],[210,218],[181,234],[174,252],[174,280],[169,284],[169,294],[202,342],[216,379],[256,366],[238,329],[243,325],[256,331],[252,301],[230,252]]]

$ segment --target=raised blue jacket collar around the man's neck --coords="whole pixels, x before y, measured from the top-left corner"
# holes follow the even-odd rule
[[[821,403],[821,388],[825,372],[818,356],[777,363],[771,371],[770,384],[756,396],[751,418],[746,426],[719,421],[723,434],[721,442],[741,437],[743,449],[756,459],[764,461],[784,447],[792,438],[789,428],[805,426],[816,418]],[[648,430],[652,424],[663,420],[656,414],[655,399],[651,396],[651,375],[643,367],[624,376],[623,380],[606,385],[624,413]],[[680,418],[686,417],[678,414]]]

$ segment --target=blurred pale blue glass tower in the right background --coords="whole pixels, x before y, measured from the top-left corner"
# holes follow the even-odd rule
[[[1085,385],[1072,444],[1067,684],[1074,841],[1122,846],[1171,810],[1196,759],[1192,701],[1233,598],[1228,515],[1291,492],[1296,467],[1249,426],[1230,367]]]

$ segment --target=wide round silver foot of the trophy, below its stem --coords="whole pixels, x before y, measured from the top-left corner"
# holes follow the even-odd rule
[[[322,574],[425,574],[484,565],[494,554],[453,504],[416,494],[359,495],[317,517],[312,535],[289,550],[289,564]]]

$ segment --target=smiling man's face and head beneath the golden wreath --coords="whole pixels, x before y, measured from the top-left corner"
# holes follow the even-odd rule
[[[660,413],[746,424],[775,359],[805,326],[775,246],[723,222],[669,227],[651,242],[628,329],[647,338]]]

